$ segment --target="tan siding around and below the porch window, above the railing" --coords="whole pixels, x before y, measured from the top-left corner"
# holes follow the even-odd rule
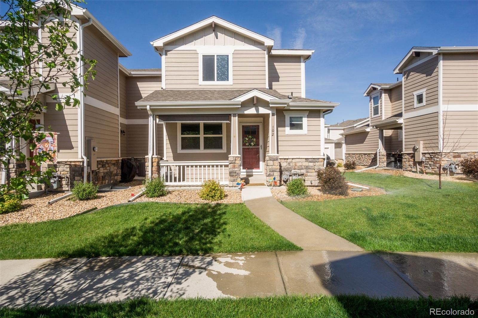
[[[177,152],[177,123],[166,124],[166,159],[168,161],[227,161],[231,153],[231,125],[226,124],[226,152]]]

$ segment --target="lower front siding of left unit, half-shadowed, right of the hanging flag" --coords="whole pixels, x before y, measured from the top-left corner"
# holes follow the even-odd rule
[[[59,133],[58,159],[78,158],[78,108],[65,107],[55,110],[54,103],[46,103],[47,111],[43,114],[45,131]]]

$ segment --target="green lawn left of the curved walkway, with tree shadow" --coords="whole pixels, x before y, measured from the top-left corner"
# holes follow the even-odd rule
[[[244,204],[142,202],[0,227],[0,259],[299,250]]]

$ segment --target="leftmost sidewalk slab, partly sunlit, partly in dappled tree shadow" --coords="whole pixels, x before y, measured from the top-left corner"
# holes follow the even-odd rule
[[[0,307],[21,307],[40,297],[87,258],[0,261]]]

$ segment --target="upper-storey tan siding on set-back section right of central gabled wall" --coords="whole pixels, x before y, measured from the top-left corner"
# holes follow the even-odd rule
[[[269,88],[281,94],[302,97],[300,56],[268,57]]]

